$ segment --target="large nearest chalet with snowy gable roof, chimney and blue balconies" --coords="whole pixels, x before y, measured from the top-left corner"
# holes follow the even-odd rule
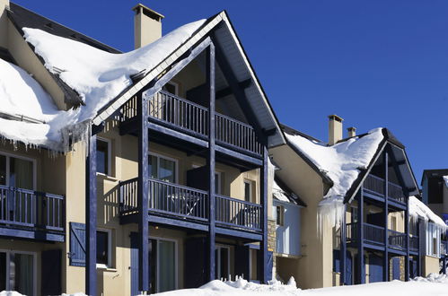
[[[271,277],[268,149],[285,137],[232,22],[162,36],[162,14],[133,11],[121,53],[0,1],[0,291]]]

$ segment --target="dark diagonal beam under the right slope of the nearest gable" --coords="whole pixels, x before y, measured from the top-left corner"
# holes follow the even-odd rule
[[[213,40],[215,41],[215,32],[212,33]],[[242,108],[242,112],[244,113],[244,116],[248,119],[251,126],[254,127],[255,133],[257,135],[257,138],[259,140],[259,143],[266,144],[268,143],[268,139],[266,135],[263,134],[262,126],[259,123],[259,119],[257,118],[254,110],[250,106],[249,100],[246,97],[246,94],[244,91],[240,88],[238,85],[238,80],[236,78],[236,75],[233,73],[232,66],[230,65],[229,61],[224,55],[224,50],[220,47],[219,43],[215,43],[215,50],[216,50],[216,62],[223,71],[225,80],[229,84],[229,87],[232,89],[233,95],[235,96],[236,100],[240,104],[240,107]]]

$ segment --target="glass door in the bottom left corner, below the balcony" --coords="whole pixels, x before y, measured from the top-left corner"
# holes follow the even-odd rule
[[[0,289],[36,295],[36,257],[32,253],[0,252]]]

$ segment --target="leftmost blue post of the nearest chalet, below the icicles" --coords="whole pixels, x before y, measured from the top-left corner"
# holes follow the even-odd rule
[[[96,135],[89,132],[85,159],[85,293],[96,295]]]

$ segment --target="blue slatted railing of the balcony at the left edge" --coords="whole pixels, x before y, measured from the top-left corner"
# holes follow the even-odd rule
[[[0,223],[50,231],[64,231],[64,196],[0,186]]]

